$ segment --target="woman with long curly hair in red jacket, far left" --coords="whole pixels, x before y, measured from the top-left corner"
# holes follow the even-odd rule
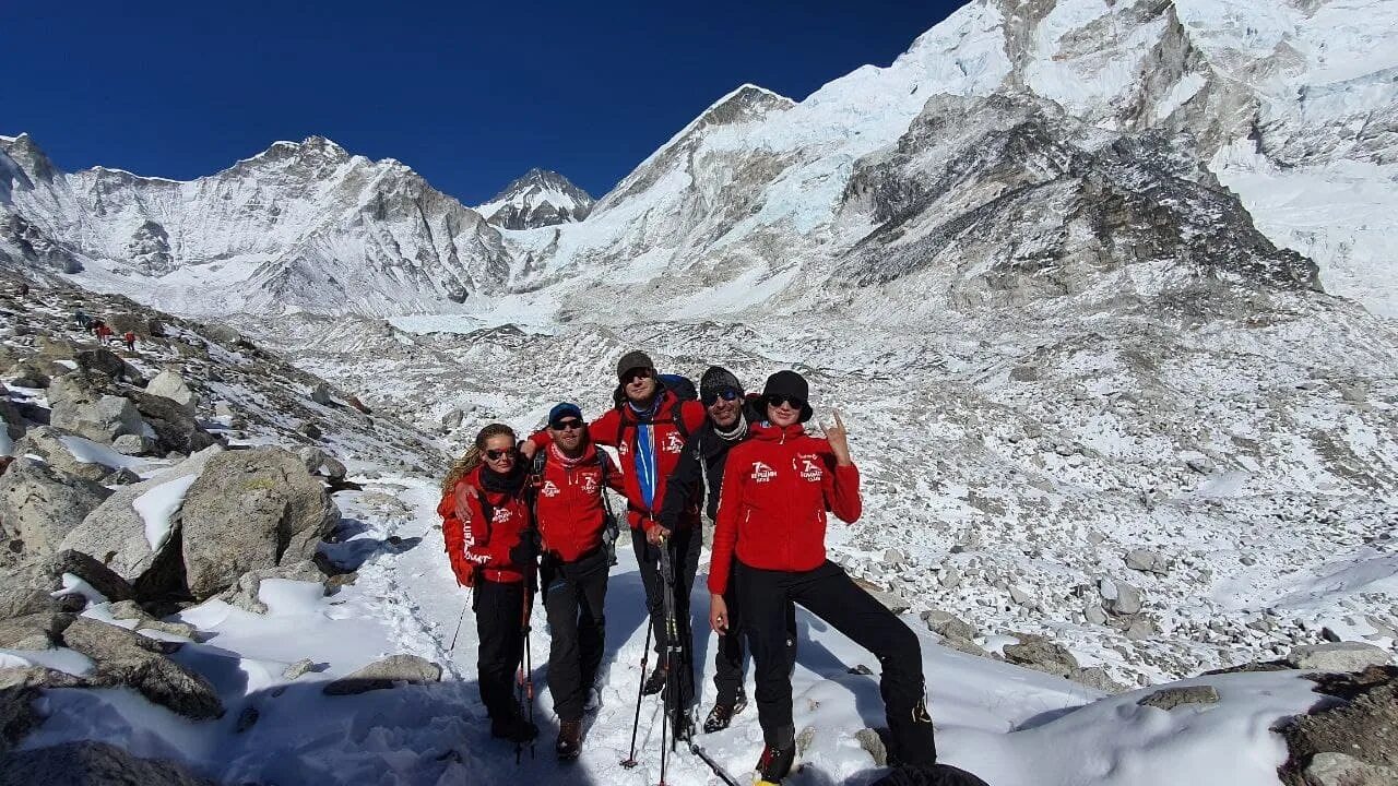
[[[481,702],[491,716],[491,736],[512,741],[538,734],[510,695],[533,603],[526,480],[514,431],[491,424],[475,435],[475,445],[447,473],[438,505],[456,580],[475,587],[471,607],[481,639],[475,666]]]

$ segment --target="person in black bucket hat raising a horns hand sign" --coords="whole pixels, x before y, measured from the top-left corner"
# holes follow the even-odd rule
[[[921,648],[907,625],[826,559],[826,510],[846,522],[858,519],[860,471],[839,413],[825,439],[805,434],[801,424],[812,413],[808,392],[795,372],[768,378],[762,392],[768,420],[728,452],[709,566],[709,624],[720,635],[727,631],[723,593],[737,582],[756,678],[763,780],[780,782],[795,757],[786,645],[786,604],[795,601],[878,657],[891,758],[907,768],[900,775],[918,782],[918,773],[937,764]]]

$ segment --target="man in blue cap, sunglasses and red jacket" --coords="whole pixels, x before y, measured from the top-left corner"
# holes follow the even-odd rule
[[[572,761],[582,752],[583,710],[603,663],[607,573],[617,536],[605,490],[621,491],[621,473],[587,438],[577,404],[563,401],[549,410],[548,432],[554,442],[534,459],[534,515],[542,538],[540,586],[552,632],[554,750],[561,761]]]

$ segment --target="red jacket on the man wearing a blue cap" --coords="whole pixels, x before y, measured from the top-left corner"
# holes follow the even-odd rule
[[[552,443],[541,450],[545,452],[544,474],[535,490],[534,516],[544,551],[563,562],[576,562],[601,548],[607,519],[604,483],[621,491],[621,473],[607,453],[593,445],[587,445],[577,459],[563,456]]]

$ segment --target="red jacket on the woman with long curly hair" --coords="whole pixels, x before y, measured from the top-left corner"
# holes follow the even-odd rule
[[[474,494],[457,494],[463,487],[473,488]],[[489,520],[481,506],[482,495],[493,508]],[[510,561],[510,550],[519,545],[520,534],[530,522],[528,503],[521,495],[485,491],[481,467],[477,467],[442,496],[438,515],[442,516],[442,540],[459,583],[473,586],[475,575],[491,582],[524,580],[524,571]]]

